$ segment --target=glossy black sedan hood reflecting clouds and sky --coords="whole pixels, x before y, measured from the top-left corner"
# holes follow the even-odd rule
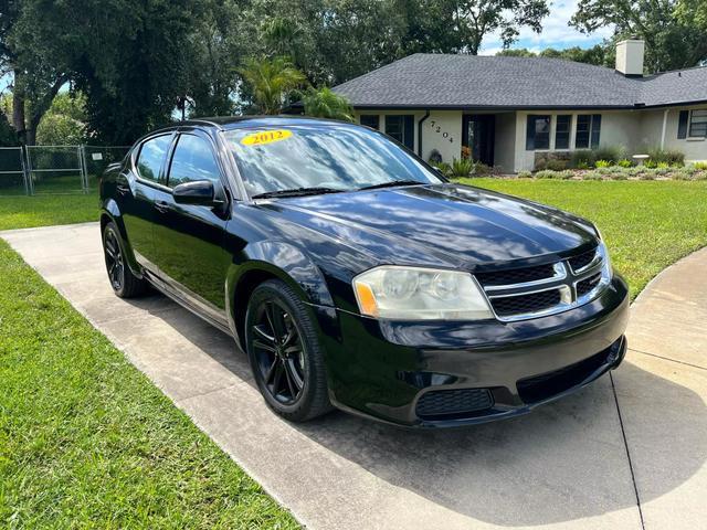
[[[458,184],[288,198],[263,205],[379,264],[475,269],[547,262],[597,244],[591,223],[580,218]]]

